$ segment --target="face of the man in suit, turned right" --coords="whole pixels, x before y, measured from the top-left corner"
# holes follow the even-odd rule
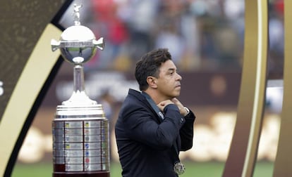
[[[160,66],[157,78],[157,91],[165,99],[175,98],[181,93],[181,75],[176,71],[172,60],[167,60]]]

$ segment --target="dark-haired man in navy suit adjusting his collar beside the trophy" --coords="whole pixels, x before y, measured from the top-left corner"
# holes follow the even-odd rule
[[[142,56],[135,68],[140,91],[130,89],[115,126],[123,177],[183,173],[178,154],[193,146],[195,115],[176,98],[181,75],[166,48]]]

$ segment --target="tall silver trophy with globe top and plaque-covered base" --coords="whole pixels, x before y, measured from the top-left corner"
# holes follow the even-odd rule
[[[79,10],[74,4],[74,25],[51,40],[51,50],[61,51],[74,65],[73,94],[56,107],[52,122],[54,176],[109,176],[109,122],[102,105],[85,93],[83,64],[104,49],[104,39],[80,25]]]

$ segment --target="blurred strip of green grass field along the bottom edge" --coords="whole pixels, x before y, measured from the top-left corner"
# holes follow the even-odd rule
[[[184,162],[185,173],[182,177],[219,177],[221,176],[224,163],[219,162]],[[38,163],[38,164],[20,164],[14,166],[12,177],[51,177],[52,164]],[[273,163],[272,162],[258,162],[255,167],[254,177],[272,177]],[[111,177],[121,176],[121,166],[118,163],[111,164]]]

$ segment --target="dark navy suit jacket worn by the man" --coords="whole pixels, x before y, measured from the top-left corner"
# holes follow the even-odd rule
[[[174,143],[178,150],[193,146],[195,115],[181,116],[174,104],[164,108],[162,120],[140,92],[130,89],[115,126],[123,177],[171,177]]]

